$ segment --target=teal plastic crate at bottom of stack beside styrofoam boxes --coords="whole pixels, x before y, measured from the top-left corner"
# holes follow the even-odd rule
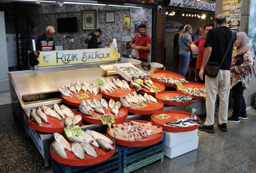
[[[127,167],[122,167],[122,173],[128,173],[128,172],[134,171],[140,167],[143,167],[149,163],[155,162],[159,159],[161,159],[161,161],[164,160],[164,152],[147,156],[134,163],[129,164]]]

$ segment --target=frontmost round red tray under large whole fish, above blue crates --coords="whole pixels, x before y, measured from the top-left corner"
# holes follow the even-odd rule
[[[105,136],[107,136],[107,135],[105,135]],[[107,137],[112,140],[111,137],[109,137],[109,136],[107,136]],[[66,137],[64,136],[64,138],[66,138]],[[54,142],[55,141],[53,141],[53,143]],[[68,143],[70,143],[70,145],[72,145],[71,141],[68,141]],[[70,166],[87,166],[87,165],[94,165],[94,164],[97,164],[97,163],[101,163],[105,160],[108,160],[115,153],[115,150],[111,150],[111,151],[108,152],[108,151],[102,150],[101,148],[98,149],[94,145],[92,145],[94,147],[94,149],[96,150],[97,154],[99,155],[98,157],[94,158],[94,157],[91,157],[90,155],[85,153],[85,159],[81,160],[81,159],[78,159],[73,153],[70,153],[70,152],[68,152],[68,150],[65,150],[68,158],[63,158],[63,157],[60,157],[60,156],[56,155],[52,151],[52,144],[51,144],[51,147],[50,147],[51,148],[50,153],[51,153],[52,158],[56,162],[59,162],[59,163],[65,164],[65,165],[70,165]],[[116,148],[115,143],[114,143],[113,148]]]

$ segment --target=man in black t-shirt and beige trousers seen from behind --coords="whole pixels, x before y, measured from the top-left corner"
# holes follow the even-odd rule
[[[229,42],[232,38],[232,31],[226,27],[227,21],[226,16],[219,14],[215,18],[215,25],[217,28],[211,29],[207,33],[204,47],[205,52],[203,56],[203,63],[199,72],[199,77],[203,80],[203,68],[209,61],[214,61],[221,64],[224,59],[219,74],[217,77],[205,76],[205,89],[206,89],[206,120],[199,130],[208,133],[214,133],[214,113],[215,113],[215,101],[217,92],[219,95],[219,122],[218,127],[221,131],[227,132],[227,119],[228,119],[228,98],[230,91],[230,66],[233,44],[236,41],[235,37],[232,39],[231,46],[228,49],[227,56],[224,57],[225,52],[228,48]]]

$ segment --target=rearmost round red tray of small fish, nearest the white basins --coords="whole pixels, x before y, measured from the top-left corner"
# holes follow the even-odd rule
[[[171,78],[179,78],[179,79],[185,79],[183,76],[174,73],[172,71],[166,71],[166,70],[156,70],[154,71],[154,77],[171,77]],[[154,79],[150,76],[151,79]],[[165,83],[165,82],[161,82],[162,84],[164,84],[165,86],[171,86],[171,87],[177,87],[176,84],[170,84],[170,83]],[[183,84],[183,83],[182,83]]]

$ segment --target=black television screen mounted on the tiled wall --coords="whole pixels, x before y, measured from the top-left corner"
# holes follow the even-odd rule
[[[57,30],[58,32],[77,32],[77,18],[57,18]]]

